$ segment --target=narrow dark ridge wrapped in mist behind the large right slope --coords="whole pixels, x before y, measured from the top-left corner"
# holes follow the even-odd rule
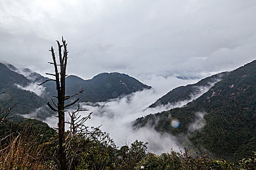
[[[167,94],[163,95],[155,103],[150,105],[150,107],[158,107],[160,105],[175,104],[179,101],[190,101],[196,95],[202,93],[205,90],[209,90],[213,84],[228,75],[228,72],[219,73],[217,75],[209,76],[203,78],[196,84],[188,84],[186,86],[179,86]],[[199,96],[198,96],[199,97]]]

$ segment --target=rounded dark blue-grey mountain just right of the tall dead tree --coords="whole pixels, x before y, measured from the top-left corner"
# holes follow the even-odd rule
[[[84,92],[79,94],[80,101],[96,102],[107,101],[122,95],[150,89],[135,78],[121,73],[100,73],[91,80],[83,80],[77,76],[66,78],[67,94],[72,95],[83,88]]]

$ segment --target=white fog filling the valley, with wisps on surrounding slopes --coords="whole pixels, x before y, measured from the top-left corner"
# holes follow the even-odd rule
[[[182,107],[183,105],[186,105],[188,102],[207,92],[207,90],[209,90],[213,84],[211,84],[211,86],[196,87],[200,89],[200,92],[191,94],[190,100],[180,101],[175,104],[169,104],[156,108],[148,108],[149,105],[154,103],[156,99],[160,98],[165,93],[169,92],[169,90],[172,90],[177,86],[198,81],[181,80],[176,77],[163,78],[159,76],[153,76],[153,79],[154,80],[148,78],[146,82],[148,82],[148,84],[150,84],[150,82],[161,83],[159,86],[157,86],[157,84],[150,84],[156,86],[156,88],[152,88],[150,90],[135,92],[131,95],[126,95],[106,102],[80,103],[82,109],[89,109],[89,111],[80,112],[79,114],[82,116],[87,116],[89,112],[93,112],[91,119],[87,120],[86,122],[87,126],[101,126],[100,129],[110,133],[110,137],[114,139],[117,146],[131,144],[138,139],[139,141],[148,142],[148,152],[161,154],[162,152],[170,152],[171,148],[177,151],[180,149],[182,150],[182,144],[178,143],[177,138],[173,135],[166,133],[160,134],[151,127],[133,129],[131,123],[137,118],[146,116],[148,114],[169,110],[175,107]],[[158,79],[158,81],[156,81],[156,79]],[[42,109],[37,109],[31,114],[27,114],[26,117],[36,118],[40,110]],[[72,109],[69,111],[72,111]],[[203,121],[203,116],[201,114],[197,114],[197,117],[196,122],[190,125],[190,129],[198,129],[199,127],[203,126],[201,123]],[[68,113],[66,113],[66,120],[69,120]],[[43,121],[47,122],[51,127],[56,127],[58,120],[55,116],[52,116]],[[170,122],[170,124],[173,125],[173,121]],[[66,129],[68,129],[68,126],[66,126]]]

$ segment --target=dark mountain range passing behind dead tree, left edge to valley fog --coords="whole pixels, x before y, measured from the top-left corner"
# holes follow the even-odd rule
[[[14,103],[18,105],[12,112],[16,114],[35,112],[36,118],[46,118],[53,114],[45,105],[53,95],[56,95],[56,85],[54,82],[47,82],[43,86],[37,84],[47,79],[30,69],[17,69],[11,64],[0,63],[0,92],[5,92],[0,95],[0,100],[6,101],[13,97],[12,105]],[[84,92],[77,96],[79,102],[97,102],[151,87],[121,73],[101,73],[91,80],[83,80],[74,75],[66,77],[66,95],[74,95],[81,88]],[[44,109],[39,109],[41,107]]]

